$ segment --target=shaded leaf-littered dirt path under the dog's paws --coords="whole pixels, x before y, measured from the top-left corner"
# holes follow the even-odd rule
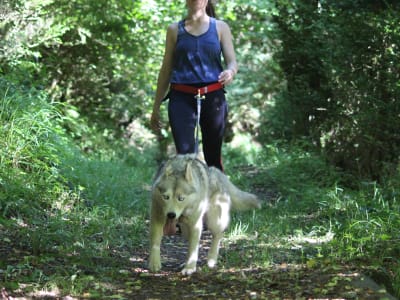
[[[180,275],[186,243],[180,236],[163,239],[163,271],[148,273],[145,261],[134,263],[135,273],[125,283],[127,298],[135,299],[395,299],[372,279],[351,266],[323,269],[285,263],[264,268],[208,270],[206,251],[210,234],[205,232],[199,271]],[[235,251],[235,245],[229,246]],[[225,251],[226,249],[221,249]],[[144,253],[137,253],[143,257]],[[223,256],[223,255],[222,255]]]

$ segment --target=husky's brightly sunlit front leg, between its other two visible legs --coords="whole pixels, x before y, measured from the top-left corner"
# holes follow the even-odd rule
[[[189,249],[188,258],[185,267],[182,270],[183,275],[191,275],[196,272],[196,265],[199,256],[199,242],[201,236],[201,230],[203,227],[202,218],[200,218],[196,224],[189,226],[188,239]]]

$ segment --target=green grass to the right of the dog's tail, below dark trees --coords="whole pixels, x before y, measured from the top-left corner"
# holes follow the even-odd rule
[[[254,162],[261,174],[240,176],[249,188],[264,186],[277,194],[255,215],[234,218],[229,237],[257,232],[250,261],[237,264],[335,264],[356,266],[394,294],[400,282],[400,205],[398,182],[346,185],[341,174],[322,158],[300,148],[264,149]],[[246,178],[248,180],[246,180]],[[396,182],[396,183],[395,183]],[[239,243],[240,244],[240,243]],[[248,245],[246,240],[243,247]],[[229,254],[228,254],[229,255]]]

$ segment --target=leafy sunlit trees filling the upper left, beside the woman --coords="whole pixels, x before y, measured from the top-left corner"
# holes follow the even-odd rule
[[[166,26],[182,8],[128,0],[8,4],[0,70],[42,84],[114,131],[151,106]]]

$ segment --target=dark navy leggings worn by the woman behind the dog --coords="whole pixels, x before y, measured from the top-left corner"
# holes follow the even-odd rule
[[[169,99],[168,116],[176,152],[194,153],[197,101],[194,95],[175,90],[170,91]],[[201,102],[200,114],[204,158],[208,166],[214,166],[221,171],[221,148],[227,113],[223,89],[205,95]]]

